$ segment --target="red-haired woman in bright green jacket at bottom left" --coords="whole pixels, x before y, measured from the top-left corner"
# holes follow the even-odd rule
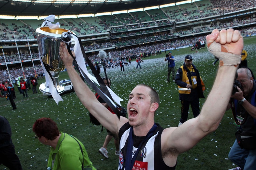
[[[60,132],[57,124],[50,118],[37,119],[32,129],[39,141],[50,145],[47,169],[90,169],[93,167],[84,145],[72,135]]]

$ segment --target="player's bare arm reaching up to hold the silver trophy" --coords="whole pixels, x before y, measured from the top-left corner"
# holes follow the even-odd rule
[[[81,79],[77,71],[73,67],[73,58],[68,53],[66,44],[60,44],[60,57],[65,64],[68,76],[73,83],[76,95],[80,99],[81,103],[89,110],[89,112],[97,118],[97,120],[109,131],[118,133],[119,128],[128,119],[125,117],[120,117],[120,120],[115,114],[112,114],[107,108],[105,108],[100,102],[98,102],[94,93],[89,89],[89,87]]]

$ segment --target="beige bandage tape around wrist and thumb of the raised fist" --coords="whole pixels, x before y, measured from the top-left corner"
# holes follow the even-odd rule
[[[236,66],[241,62],[241,55],[221,51],[221,44],[213,42],[207,49],[220,60],[220,66]]]

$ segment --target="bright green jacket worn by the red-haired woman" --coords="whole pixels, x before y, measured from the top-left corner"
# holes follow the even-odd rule
[[[76,139],[83,150],[83,158],[79,144],[67,133],[60,132],[56,148],[50,148],[50,155],[47,167],[51,170],[81,170],[82,162],[84,169],[96,170],[88,157],[84,145]]]

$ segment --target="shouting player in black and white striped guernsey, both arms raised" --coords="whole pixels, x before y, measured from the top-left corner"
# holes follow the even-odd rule
[[[128,119],[118,119],[98,102],[94,93],[82,81],[73,67],[74,59],[68,53],[65,43],[61,43],[60,57],[71,81],[76,82],[73,83],[74,89],[81,103],[106,129],[119,133],[118,169],[175,169],[180,153],[188,151],[203,137],[217,129],[231,96],[236,66],[241,61],[243,38],[237,30],[215,29],[212,34],[206,36],[206,40],[209,51],[216,53],[222,61],[220,63],[223,63],[221,66],[224,67],[219,67],[201,114],[180,127],[166,129],[154,122],[154,115],[159,107],[159,96],[154,89],[142,84],[137,85],[129,95]],[[213,103],[218,107],[212,107]]]

